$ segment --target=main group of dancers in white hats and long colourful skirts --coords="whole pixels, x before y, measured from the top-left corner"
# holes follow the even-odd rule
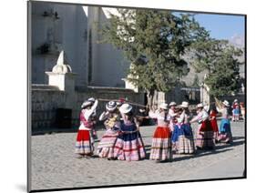
[[[81,106],[80,127],[77,132],[76,153],[78,157],[92,157],[94,153],[95,112],[98,101],[87,99]],[[197,105],[197,116],[192,117],[189,103],[162,103],[159,109],[150,109],[148,117],[157,120],[152,138],[149,159],[159,162],[171,161],[172,154],[194,154],[196,148],[212,149],[216,142],[232,141],[228,101],[221,107],[211,109],[210,115],[202,104]],[[217,125],[220,112],[220,131]],[[128,103],[109,101],[99,121],[104,121],[106,132],[97,145],[97,156],[102,158],[138,161],[146,157],[146,150],[139,132],[138,118]],[[191,123],[198,122],[196,137]],[[195,142],[196,141],[196,142]]]

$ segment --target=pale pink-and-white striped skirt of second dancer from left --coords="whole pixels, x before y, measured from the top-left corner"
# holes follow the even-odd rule
[[[118,130],[108,129],[97,145],[98,157],[114,157],[114,146],[118,138]]]

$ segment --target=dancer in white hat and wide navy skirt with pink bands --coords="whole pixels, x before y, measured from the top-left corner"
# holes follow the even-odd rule
[[[143,159],[146,157],[145,147],[138,130],[138,122],[132,114],[132,107],[125,103],[119,107],[119,112],[122,121],[120,134],[114,147],[114,157],[127,161]]]

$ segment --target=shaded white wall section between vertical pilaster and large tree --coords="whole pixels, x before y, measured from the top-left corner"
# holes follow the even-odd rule
[[[93,86],[114,86],[124,87],[125,82],[122,78],[127,76],[128,61],[124,58],[121,51],[114,48],[110,44],[98,44],[101,39],[97,30],[108,22],[108,9],[99,7],[90,7],[89,20],[92,27],[92,66],[93,78],[91,85]],[[111,10],[113,12],[113,10]],[[96,23],[99,23],[96,26]],[[96,26],[96,27],[95,27]]]

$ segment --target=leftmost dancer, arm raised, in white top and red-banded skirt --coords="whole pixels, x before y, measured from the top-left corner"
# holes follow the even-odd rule
[[[80,112],[80,127],[77,132],[76,153],[79,157],[92,156],[94,151],[94,139],[91,136],[91,129],[94,122],[91,120],[93,112],[97,107],[97,100],[94,104],[91,101],[85,101]]]

